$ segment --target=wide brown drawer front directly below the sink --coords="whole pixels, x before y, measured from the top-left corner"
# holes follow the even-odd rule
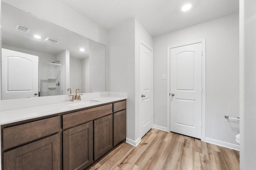
[[[62,116],[63,129],[73,127],[112,113],[112,104],[76,111]]]

